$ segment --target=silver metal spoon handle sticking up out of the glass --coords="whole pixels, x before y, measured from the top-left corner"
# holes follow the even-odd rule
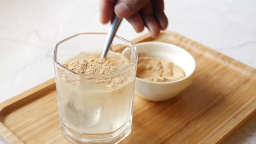
[[[105,45],[104,45],[104,49],[103,49],[103,52],[102,52],[102,55],[101,55],[101,59],[104,59],[107,56],[109,47],[112,44],[115,33],[117,32],[118,27],[119,27],[122,20],[123,19],[120,19],[118,16],[115,15],[114,20],[111,23],[108,34],[107,34],[107,39],[106,39],[106,42],[105,42]]]

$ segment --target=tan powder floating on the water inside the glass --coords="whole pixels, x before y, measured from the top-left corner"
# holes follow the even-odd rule
[[[63,66],[65,66],[69,70],[74,71],[77,74],[80,74],[79,79],[84,79],[88,83],[104,83],[103,85],[106,85],[107,89],[113,90],[123,85],[123,83],[130,81],[132,79],[132,71],[127,71],[127,73],[129,73],[130,75],[127,73],[115,76],[88,75],[114,74],[115,72],[123,69],[130,63],[131,61],[121,55],[121,53],[109,51],[106,59],[104,59],[104,61],[101,61],[101,53],[81,52],[79,53],[79,55],[72,57],[69,61],[63,63]],[[60,70],[60,76],[62,82],[72,83],[73,86],[76,86],[79,83],[78,77],[74,76],[68,71]]]

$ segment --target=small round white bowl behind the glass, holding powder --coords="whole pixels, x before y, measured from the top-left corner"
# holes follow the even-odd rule
[[[173,82],[151,82],[136,77],[135,93],[143,99],[150,101],[164,101],[171,99],[187,88],[193,80],[195,59],[189,52],[176,45],[145,42],[136,44],[138,53],[145,56],[159,57],[171,61],[185,71],[185,77]]]

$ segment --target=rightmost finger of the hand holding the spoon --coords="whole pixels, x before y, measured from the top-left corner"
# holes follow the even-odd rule
[[[168,26],[168,20],[164,13],[164,0],[153,0],[153,10],[156,19],[159,22],[161,30],[165,30]]]

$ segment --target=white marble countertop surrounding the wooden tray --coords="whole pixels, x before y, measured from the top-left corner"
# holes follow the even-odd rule
[[[165,2],[168,30],[256,68],[255,0]],[[107,32],[98,9],[98,0],[2,0],[0,103],[54,77],[53,51],[60,40],[80,32]],[[136,34],[123,21],[118,35],[131,40],[146,32]],[[256,116],[224,143],[256,143]]]

